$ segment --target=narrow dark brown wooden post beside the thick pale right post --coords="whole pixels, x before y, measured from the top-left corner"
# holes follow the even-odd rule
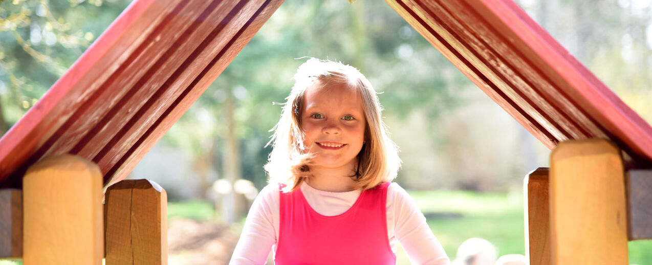
[[[530,265],[550,264],[548,168],[539,167],[524,180],[526,257]]]

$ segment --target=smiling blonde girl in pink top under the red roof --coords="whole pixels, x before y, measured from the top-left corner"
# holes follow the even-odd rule
[[[408,193],[381,105],[357,69],[309,59],[274,128],[270,184],[252,205],[230,264],[450,264]]]

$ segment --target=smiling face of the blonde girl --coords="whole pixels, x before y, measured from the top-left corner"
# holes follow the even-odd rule
[[[315,154],[311,164],[353,170],[366,124],[359,92],[342,85],[324,87],[316,81],[306,89],[301,115],[304,146]]]

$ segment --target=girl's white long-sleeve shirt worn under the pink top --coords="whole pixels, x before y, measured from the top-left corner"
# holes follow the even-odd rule
[[[306,182],[301,192],[310,207],[323,216],[343,214],[357,201],[361,190],[330,192]],[[230,264],[265,264],[269,251],[276,252],[279,227],[278,186],[268,185],[259,193],[244,222]],[[387,238],[392,251],[400,243],[413,264],[451,264],[443,247],[426,223],[417,204],[405,189],[392,183],[387,188]]]

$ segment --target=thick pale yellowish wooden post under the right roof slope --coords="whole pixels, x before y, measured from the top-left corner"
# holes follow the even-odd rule
[[[628,264],[623,174],[620,150],[604,139],[552,151],[551,264]]]

